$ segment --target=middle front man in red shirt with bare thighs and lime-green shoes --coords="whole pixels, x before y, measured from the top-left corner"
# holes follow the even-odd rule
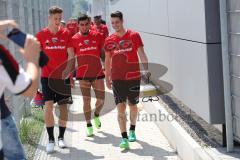
[[[80,31],[72,37],[71,45],[77,55],[78,70],[76,79],[80,82],[83,95],[83,110],[87,122],[87,136],[93,136],[91,123],[91,87],[97,101],[94,112],[94,124],[97,129],[101,127],[99,119],[100,111],[104,104],[104,81],[105,77],[101,65],[100,55],[103,51],[104,40],[98,32],[90,29],[90,19],[83,14],[78,18]]]

